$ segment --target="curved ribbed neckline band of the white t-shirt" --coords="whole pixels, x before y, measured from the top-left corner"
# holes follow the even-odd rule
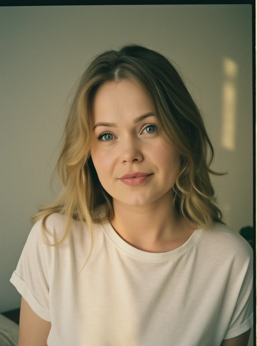
[[[102,224],[102,228],[105,231],[105,234],[107,237],[115,244],[115,246],[119,247],[121,250],[125,251],[127,254],[132,255],[134,257],[140,258],[142,260],[149,260],[149,261],[167,261],[170,259],[175,259],[177,257],[180,257],[187,251],[189,251],[195,243],[198,241],[198,239],[201,237],[203,229],[201,227],[196,228],[192,235],[190,236],[187,241],[181,245],[180,247],[168,251],[168,252],[147,252],[140,249],[137,249],[136,247],[128,244],[123,240],[118,233],[113,229],[110,222],[106,224]]]

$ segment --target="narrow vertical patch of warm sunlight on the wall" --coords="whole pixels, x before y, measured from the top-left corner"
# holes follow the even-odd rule
[[[221,145],[229,151],[236,148],[236,77],[238,66],[232,59],[223,58]]]

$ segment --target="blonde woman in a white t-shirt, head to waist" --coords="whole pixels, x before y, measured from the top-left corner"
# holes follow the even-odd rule
[[[139,45],[96,56],[66,122],[63,189],[31,218],[10,279],[19,346],[247,345],[253,251],[222,221],[212,160],[166,57]]]

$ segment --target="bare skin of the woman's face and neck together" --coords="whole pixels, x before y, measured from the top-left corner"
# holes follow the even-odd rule
[[[138,84],[132,80],[100,86],[92,103],[91,156],[103,188],[113,197],[114,230],[130,245],[148,252],[166,252],[181,246],[197,225],[183,221],[172,206],[172,186],[180,169],[179,155],[168,147],[150,116],[134,124],[136,117],[153,112]],[[97,136],[107,131],[109,134]],[[143,184],[128,186],[119,178],[129,172],[154,173]]]

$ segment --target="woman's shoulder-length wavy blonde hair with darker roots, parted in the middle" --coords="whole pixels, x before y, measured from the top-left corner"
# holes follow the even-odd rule
[[[228,173],[210,169],[213,147],[201,113],[182,77],[167,57],[142,45],[127,44],[117,51],[110,49],[93,57],[78,83],[54,170],[62,182],[62,190],[54,203],[40,204],[39,211],[30,218],[32,224],[43,218],[42,232],[48,233],[46,219],[49,215],[66,216],[63,238],[56,244],[45,242],[49,246],[64,242],[72,219],[87,222],[92,240],[90,257],[94,224],[111,222],[114,217],[112,197],[103,189],[91,158],[91,106],[100,85],[123,79],[133,80],[143,87],[157,117],[159,135],[180,154],[180,173],[173,186],[176,211],[185,220],[196,222],[204,229],[211,227],[213,221],[224,224],[222,213],[215,205],[217,200],[209,173]]]

